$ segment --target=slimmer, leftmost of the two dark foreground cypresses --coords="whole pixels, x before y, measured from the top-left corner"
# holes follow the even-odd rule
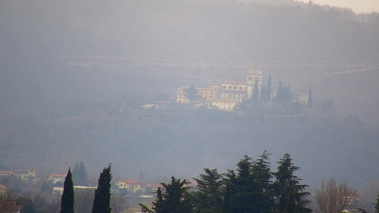
[[[66,179],[64,180],[61,213],[74,213],[74,183],[72,183],[71,168],[69,168]]]

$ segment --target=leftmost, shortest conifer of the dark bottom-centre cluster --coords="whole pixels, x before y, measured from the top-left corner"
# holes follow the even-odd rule
[[[156,202],[153,202],[153,208],[150,210],[143,204],[141,211],[144,213],[192,213],[193,204],[188,197],[188,187],[185,186],[186,180],[171,177],[171,183],[161,183],[165,191],[158,188]]]

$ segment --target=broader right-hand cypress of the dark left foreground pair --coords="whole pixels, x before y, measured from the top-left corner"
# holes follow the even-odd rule
[[[100,172],[99,183],[97,189],[95,190],[95,198],[92,207],[92,213],[110,213],[110,199],[111,199],[111,164],[108,168],[104,168]]]

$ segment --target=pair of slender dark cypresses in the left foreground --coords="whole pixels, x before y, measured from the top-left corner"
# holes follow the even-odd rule
[[[110,198],[111,198],[111,164],[108,168],[104,168],[100,172],[99,183],[95,190],[95,198],[92,207],[92,213],[110,213]],[[63,194],[61,198],[61,211],[60,213],[74,213],[74,183],[72,181],[71,168],[67,172],[66,179],[64,180]]]

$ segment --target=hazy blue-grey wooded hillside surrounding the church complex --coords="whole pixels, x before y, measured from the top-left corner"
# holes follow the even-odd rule
[[[15,13],[14,11],[17,11]],[[379,174],[379,16],[287,0],[3,0],[0,164],[90,174],[194,177],[263,150],[290,153],[309,184]],[[149,114],[183,85],[241,81],[259,68],[324,117]],[[122,110],[122,113],[119,111]],[[356,116],[352,116],[356,115]],[[370,163],[368,163],[370,162]]]

